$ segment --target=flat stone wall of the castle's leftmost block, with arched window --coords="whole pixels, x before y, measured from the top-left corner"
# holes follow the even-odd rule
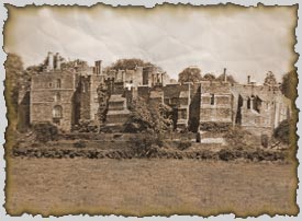
[[[70,130],[74,93],[74,73],[55,71],[33,75],[31,85],[31,124],[49,121],[56,124],[63,130]],[[61,108],[61,113],[58,113],[57,121],[54,120],[56,107]]]

